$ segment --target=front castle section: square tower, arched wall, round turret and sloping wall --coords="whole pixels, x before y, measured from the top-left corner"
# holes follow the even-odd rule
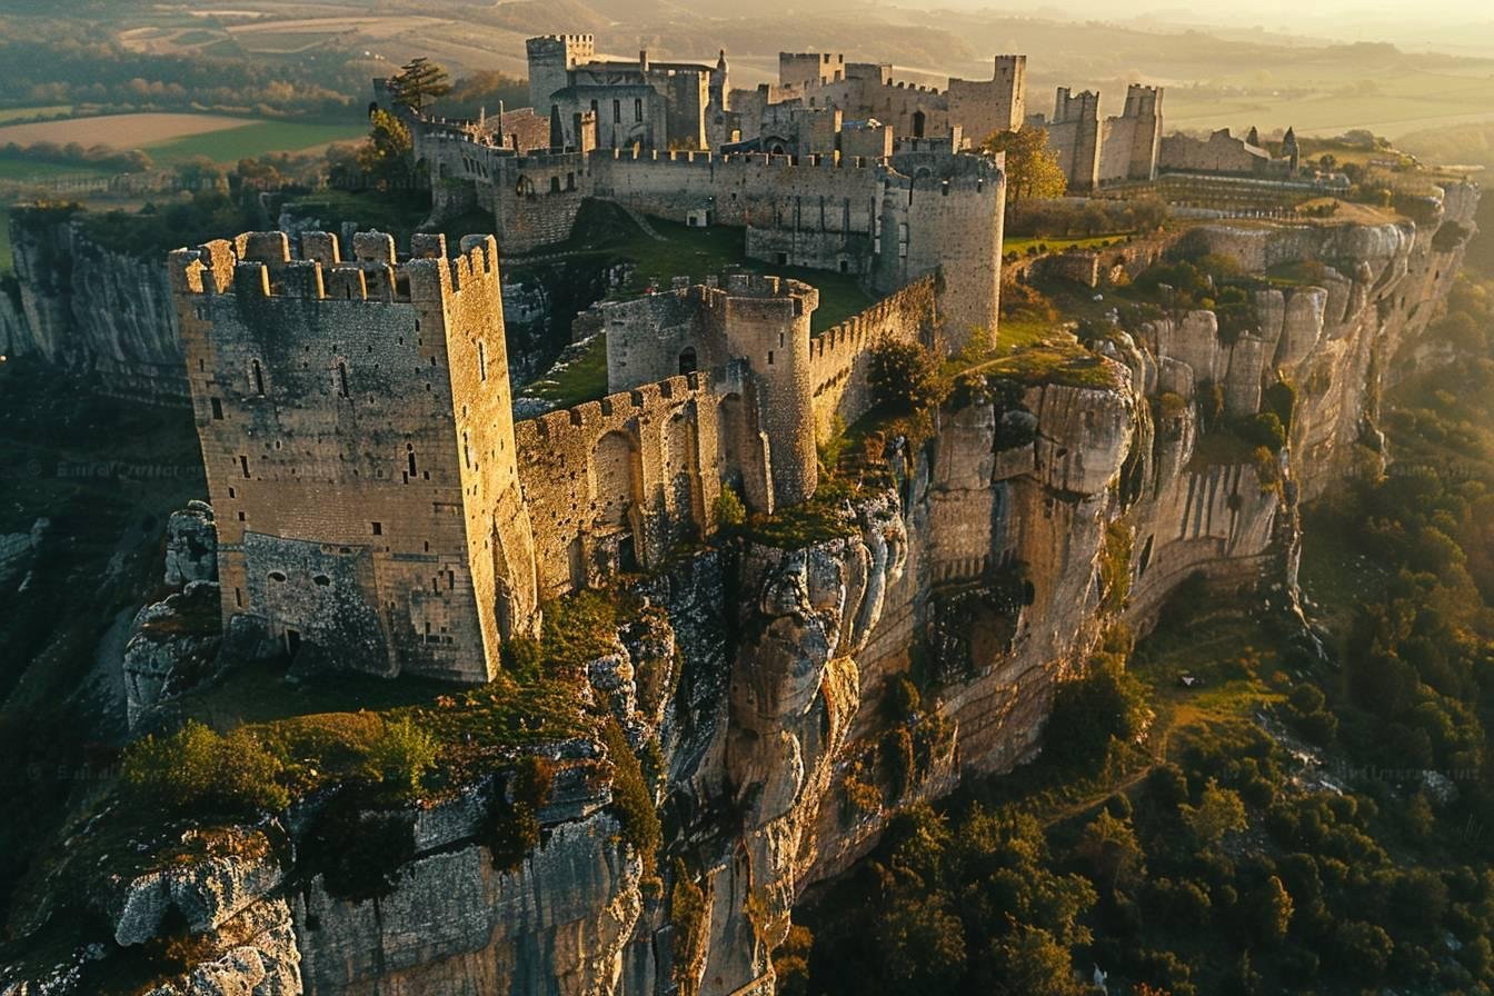
[[[601,306],[613,394],[512,421],[498,246],[247,233],[170,254],[224,624],[302,669],[487,681],[539,602],[656,567],[716,499],[808,500],[868,349],[935,340],[935,276],[817,337],[819,293],[728,273]]]

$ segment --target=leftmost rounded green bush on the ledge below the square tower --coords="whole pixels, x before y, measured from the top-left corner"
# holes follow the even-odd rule
[[[282,765],[245,727],[220,736],[188,721],[163,739],[146,736],[124,754],[124,784],[146,802],[181,814],[284,809]]]

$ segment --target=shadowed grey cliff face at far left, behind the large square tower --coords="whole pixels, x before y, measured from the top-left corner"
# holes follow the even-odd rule
[[[187,397],[176,311],[154,258],[100,246],[81,222],[45,211],[10,215],[13,293],[0,294],[0,342],[96,373],[106,393]]]

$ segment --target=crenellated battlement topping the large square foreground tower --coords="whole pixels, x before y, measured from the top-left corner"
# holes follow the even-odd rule
[[[284,231],[245,231],[167,257],[172,287],[181,294],[290,297],[303,300],[369,300],[411,303],[462,294],[475,281],[499,281],[498,242],[466,236],[462,252],[447,257],[442,234],[417,233],[411,255],[400,260],[394,237],[382,231],[353,236],[353,258],[327,231],[302,233],[299,254]]]

